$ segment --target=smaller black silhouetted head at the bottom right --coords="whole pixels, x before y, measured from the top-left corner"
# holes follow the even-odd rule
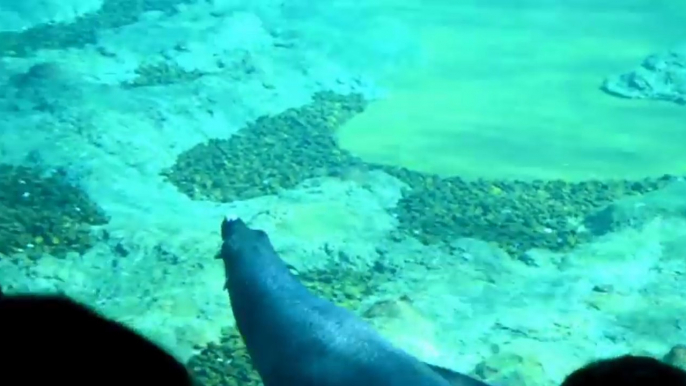
[[[686,372],[655,358],[625,355],[587,364],[562,386],[686,386]]]

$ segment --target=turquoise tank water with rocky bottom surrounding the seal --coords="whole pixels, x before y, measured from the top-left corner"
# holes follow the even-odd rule
[[[686,343],[681,2],[17,4],[6,292],[257,384],[213,259],[233,213],[314,292],[492,384]]]

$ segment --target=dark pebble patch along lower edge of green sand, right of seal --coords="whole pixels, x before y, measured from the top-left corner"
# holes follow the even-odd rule
[[[670,177],[586,182],[426,177],[399,202],[397,214],[401,228],[427,244],[473,237],[495,242],[514,255],[532,248],[568,251],[593,236],[583,224],[590,213],[669,181]]]

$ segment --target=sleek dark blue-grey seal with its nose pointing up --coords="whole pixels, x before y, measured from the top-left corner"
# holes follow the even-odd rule
[[[311,293],[264,231],[227,216],[221,235],[225,289],[265,386],[488,386],[420,361]]]

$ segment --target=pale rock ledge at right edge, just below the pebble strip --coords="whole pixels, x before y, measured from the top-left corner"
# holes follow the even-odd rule
[[[600,208],[587,216],[584,224],[594,235],[604,235],[626,227],[639,227],[658,216],[686,218],[684,197],[686,181],[676,180],[662,189],[626,197]]]

